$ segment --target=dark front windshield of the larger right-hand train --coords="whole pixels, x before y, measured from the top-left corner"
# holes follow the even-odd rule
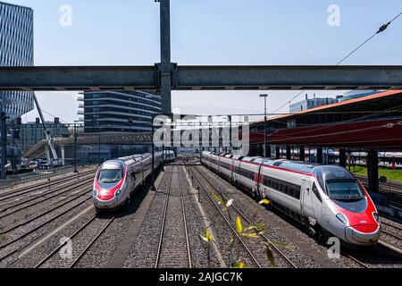
[[[364,198],[364,191],[355,180],[327,181],[327,193],[332,199]]]

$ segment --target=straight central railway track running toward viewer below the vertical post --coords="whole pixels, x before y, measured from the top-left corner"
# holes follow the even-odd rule
[[[176,172],[173,172],[174,170],[176,170]],[[177,176],[177,189],[172,188],[173,175]],[[183,189],[177,166],[172,166],[168,189],[165,196],[163,220],[156,253],[155,268],[191,268],[192,261],[188,240],[186,209],[184,206]]]

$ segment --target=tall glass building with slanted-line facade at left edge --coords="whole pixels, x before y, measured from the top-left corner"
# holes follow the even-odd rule
[[[32,9],[0,2],[0,65],[33,65],[33,45]],[[0,109],[10,119],[21,117],[33,108],[33,92],[0,91]]]

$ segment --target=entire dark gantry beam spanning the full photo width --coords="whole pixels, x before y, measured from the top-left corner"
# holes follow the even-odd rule
[[[161,82],[164,77],[161,72],[176,90],[402,88],[402,66],[178,66],[173,69],[172,63],[163,63],[159,68],[155,65],[0,67],[0,90],[156,89],[165,84]]]

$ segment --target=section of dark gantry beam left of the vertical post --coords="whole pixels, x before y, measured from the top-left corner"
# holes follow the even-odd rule
[[[0,67],[3,90],[154,88],[155,66]]]

